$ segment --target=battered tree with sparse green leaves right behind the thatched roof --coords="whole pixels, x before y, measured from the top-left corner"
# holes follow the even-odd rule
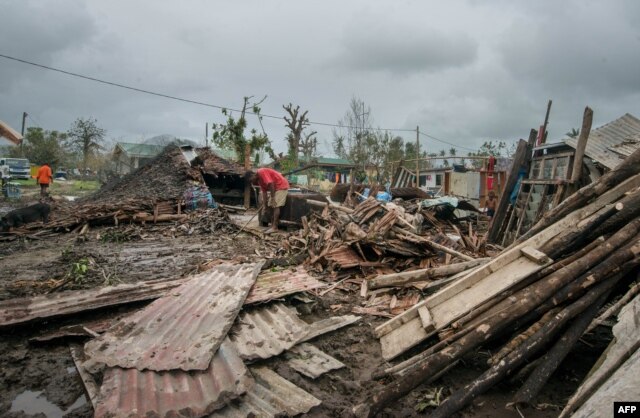
[[[245,147],[249,145],[251,154],[265,150],[271,158],[276,159],[275,153],[271,148],[271,142],[269,137],[264,132],[259,134],[257,130],[251,129],[250,136],[245,135],[245,129],[247,128],[246,112],[247,109],[251,109],[251,112],[258,116],[258,121],[262,125],[262,116],[260,116],[260,104],[266,99],[266,96],[256,103],[249,103],[251,97],[244,97],[244,103],[242,105],[242,111],[238,119],[234,118],[233,114],[227,110],[222,109],[222,114],[227,118],[224,124],[213,124],[213,143],[223,149],[229,149],[236,153],[236,157],[240,163],[244,163]],[[255,161],[259,164],[260,161]]]

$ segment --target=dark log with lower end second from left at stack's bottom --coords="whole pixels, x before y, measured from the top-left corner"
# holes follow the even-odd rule
[[[584,297],[567,306],[503,361],[492,366],[474,382],[451,395],[431,414],[431,418],[447,418],[464,408],[476,396],[484,393],[510,371],[520,367],[527,359],[544,348],[561,331],[562,327],[578,314],[584,312],[584,315],[595,315],[612,286],[613,284],[610,282],[601,283],[591,289]]]

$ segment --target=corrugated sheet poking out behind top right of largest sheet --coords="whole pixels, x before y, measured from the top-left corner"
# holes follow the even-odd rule
[[[245,304],[266,302],[324,286],[324,283],[310,276],[302,268],[263,273],[251,288]]]

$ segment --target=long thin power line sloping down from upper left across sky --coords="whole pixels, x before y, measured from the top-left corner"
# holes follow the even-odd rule
[[[17,61],[23,64],[28,64],[28,65],[32,65],[34,67],[39,67],[45,70],[50,70],[50,71],[55,71],[58,73],[62,73],[62,74],[66,74],[72,77],[78,77],[78,78],[82,78],[85,80],[89,80],[89,81],[94,81],[96,83],[101,83],[101,84],[106,84],[112,87],[119,87],[122,89],[127,89],[127,90],[133,90],[133,91],[137,91],[138,93],[144,93],[144,94],[150,94],[152,96],[158,96],[158,97],[164,97],[165,99],[171,99],[171,100],[177,100],[180,102],[185,102],[185,103],[191,103],[191,104],[195,104],[195,105],[199,105],[199,106],[206,106],[206,107],[212,107],[215,109],[226,109],[226,110],[230,110],[233,112],[242,112],[242,110],[240,109],[234,109],[228,106],[220,106],[220,105],[216,105],[216,104],[211,104],[211,103],[205,103],[205,102],[201,102],[198,100],[191,100],[191,99],[185,99],[182,97],[178,97],[178,96],[172,96],[170,94],[165,94],[165,93],[158,93],[158,92],[154,92],[151,90],[146,90],[146,89],[141,89],[138,87],[133,87],[133,86],[128,86],[125,84],[120,84],[120,83],[115,83],[113,81],[107,81],[107,80],[102,80],[96,77],[91,77],[91,76],[87,76],[87,75],[83,75],[83,74],[78,74],[78,73],[74,73],[71,71],[67,71],[67,70],[62,70],[60,68],[55,68],[55,67],[50,67],[48,65],[44,65],[44,64],[38,64],[36,62],[32,62],[32,61],[27,61],[24,59],[20,59],[20,58],[16,58],[16,57],[11,57],[9,55],[4,55],[4,54],[0,54],[0,57],[8,59],[8,60],[12,60],[12,61]],[[269,115],[266,113],[254,113],[248,110],[245,110],[245,113],[250,114],[250,115],[256,115],[259,117],[266,117],[266,118],[271,118],[271,119],[279,119],[282,120],[284,119],[282,116],[275,116],[275,115]],[[335,124],[335,123],[327,123],[327,122],[315,122],[315,121],[310,121],[310,124],[313,125],[320,125],[320,126],[331,126],[334,128],[350,128],[350,129],[357,129],[357,127],[354,126],[348,126],[348,125],[340,125],[340,124]],[[413,129],[404,129],[404,128],[371,128],[370,130],[374,130],[374,131],[397,131],[397,132],[414,132]]]

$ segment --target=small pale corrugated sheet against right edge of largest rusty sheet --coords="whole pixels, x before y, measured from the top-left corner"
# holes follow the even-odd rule
[[[293,347],[307,334],[308,325],[295,310],[281,303],[242,312],[229,338],[245,360],[267,359]]]

